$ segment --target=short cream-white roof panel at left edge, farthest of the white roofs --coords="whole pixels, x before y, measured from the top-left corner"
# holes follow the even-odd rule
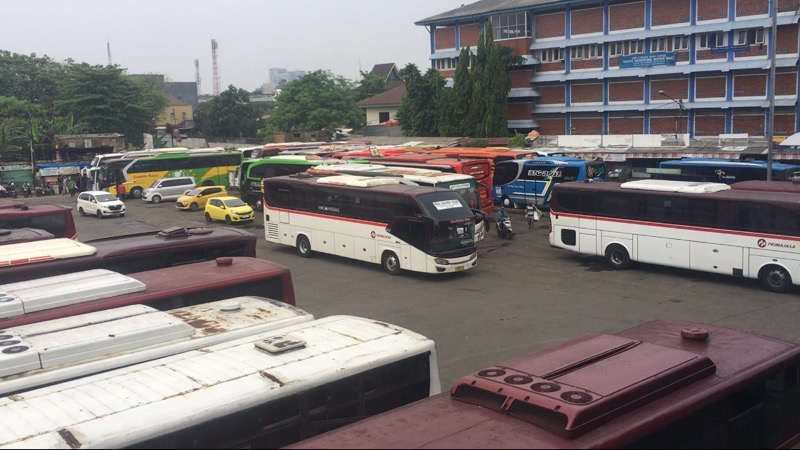
[[[91,245],[68,238],[9,244],[0,246],[0,267],[76,258],[94,255],[96,251]]]

